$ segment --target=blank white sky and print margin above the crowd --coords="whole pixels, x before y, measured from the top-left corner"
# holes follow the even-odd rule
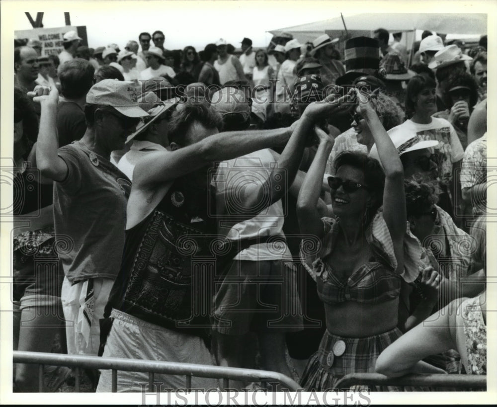
[[[93,1],[83,6],[71,1],[62,4],[15,11],[11,19],[14,30],[32,28],[24,11],[30,11],[36,19],[36,12],[44,10],[45,28],[64,26],[64,11],[69,11],[71,25],[86,26],[88,44],[93,48],[117,43],[122,49],[127,40],[137,40],[140,32],[155,30],[165,33],[165,47],[169,49],[186,45],[202,49],[219,38],[240,47],[244,37],[252,39],[254,47],[265,47],[272,37],[267,30],[340,16],[336,7],[325,1],[314,2],[314,5],[310,2],[307,6],[292,1],[99,1],[98,6]]]

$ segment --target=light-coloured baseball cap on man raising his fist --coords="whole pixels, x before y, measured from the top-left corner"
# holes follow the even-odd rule
[[[131,81],[104,79],[95,83],[86,94],[86,103],[111,106],[127,117],[145,117],[137,101],[136,87]]]

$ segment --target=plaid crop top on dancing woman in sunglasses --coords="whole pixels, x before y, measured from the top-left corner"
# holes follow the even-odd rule
[[[363,304],[380,304],[399,297],[401,278],[413,278],[417,262],[412,257],[420,257],[420,245],[411,240],[405,264],[415,271],[399,274],[394,246],[388,227],[379,211],[366,231],[366,241],[372,249],[371,261],[362,264],[346,279],[340,280],[332,267],[324,261],[331,254],[338,236],[337,219],[323,218],[324,237],[321,241],[304,239],[301,244],[301,259],[311,276],[316,280],[318,295],[326,304],[356,301]],[[412,235],[411,235],[412,236]],[[415,238],[414,238],[415,239]],[[417,275],[417,274],[416,274]],[[415,278],[415,277],[414,277]]]

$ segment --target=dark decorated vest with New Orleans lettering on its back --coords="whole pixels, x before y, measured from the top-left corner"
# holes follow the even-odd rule
[[[217,270],[241,250],[217,235],[214,196],[177,179],[155,210],[126,232],[112,308],[152,324],[204,336]]]

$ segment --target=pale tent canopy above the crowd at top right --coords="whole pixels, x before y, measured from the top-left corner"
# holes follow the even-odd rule
[[[370,35],[377,28],[391,33],[430,30],[445,34],[487,34],[487,14],[458,13],[365,13],[344,16],[347,31],[351,37]],[[295,25],[269,31],[277,36],[288,32],[300,42],[312,41],[326,33],[331,37],[344,38],[345,28],[341,17]]]

